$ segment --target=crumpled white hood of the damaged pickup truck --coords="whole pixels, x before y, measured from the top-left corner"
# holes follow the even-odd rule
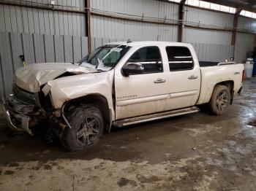
[[[72,63],[34,63],[18,69],[15,72],[14,82],[18,87],[29,92],[39,92],[40,86],[46,82],[56,79],[61,74],[86,74],[96,72],[84,66]]]

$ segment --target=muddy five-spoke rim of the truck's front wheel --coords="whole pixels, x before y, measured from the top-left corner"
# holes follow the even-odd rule
[[[81,146],[89,146],[99,139],[99,120],[97,117],[86,117],[80,123],[77,131],[77,140]]]

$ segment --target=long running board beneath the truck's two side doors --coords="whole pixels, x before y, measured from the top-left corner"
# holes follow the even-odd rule
[[[168,112],[161,112],[161,113],[156,113],[156,114],[147,114],[139,117],[131,117],[128,119],[124,120],[116,120],[113,122],[113,125],[116,127],[123,127],[127,125],[133,125],[136,123],[140,122],[148,122],[148,121],[153,121],[153,120],[159,120],[159,119],[164,119],[167,117],[174,117],[182,114],[191,114],[195,112],[199,112],[200,109],[197,108],[196,106],[192,106],[189,108],[184,108],[184,109],[176,109]]]

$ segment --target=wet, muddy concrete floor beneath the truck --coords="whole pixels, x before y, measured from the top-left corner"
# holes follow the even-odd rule
[[[203,109],[115,128],[75,153],[7,136],[1,117],[0,190],[255,190],[256,79],[244,84],[223,116]]]

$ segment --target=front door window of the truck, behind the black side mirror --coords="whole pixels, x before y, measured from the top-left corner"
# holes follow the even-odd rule
[[[163,71],[159,47],[142,47],[133,53],[127,63],[140,63],[144,68],[141,74]]]

